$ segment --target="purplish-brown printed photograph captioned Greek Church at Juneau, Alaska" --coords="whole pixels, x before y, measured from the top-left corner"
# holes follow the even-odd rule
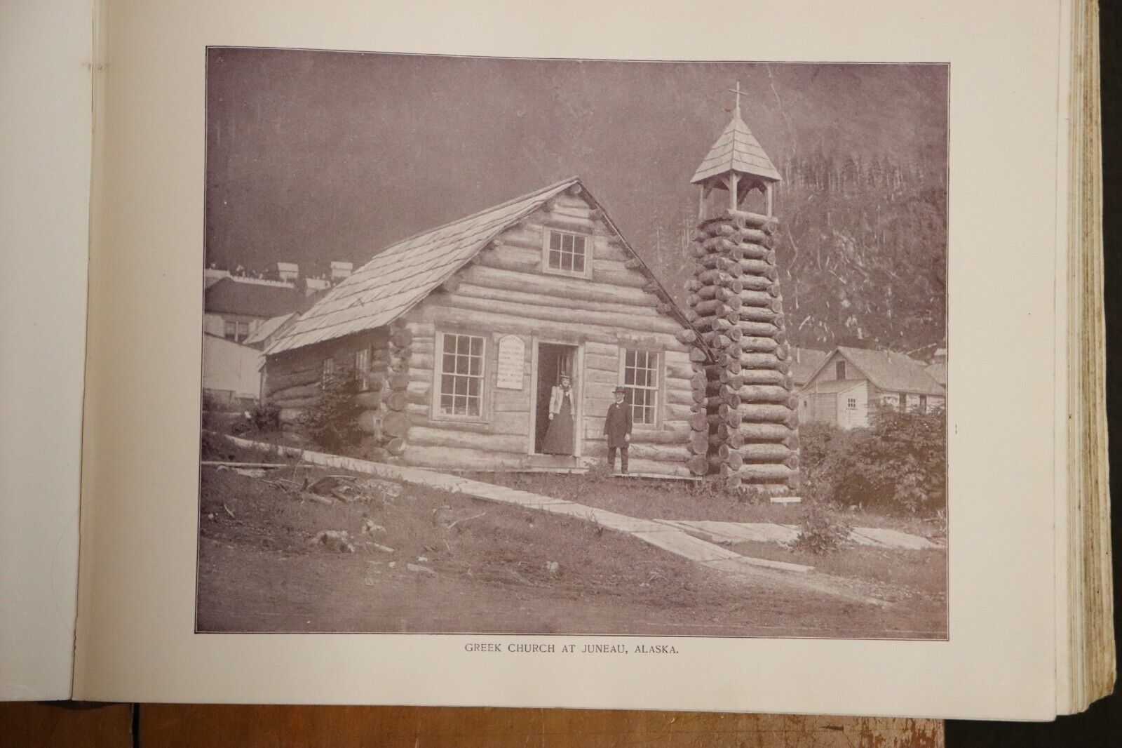
[[[948,77],[208,49],[195,630],[947,639]]]

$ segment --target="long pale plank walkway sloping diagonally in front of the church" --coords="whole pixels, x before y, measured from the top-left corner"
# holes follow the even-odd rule
[[[884,606],[882,600],[867,598],[854,593],[845,585],[836,584],[833,577],[813,573],[813,566],[802,564],[789,564],[785,562],[770,560],[765,558],[751,558],[741,556],[737,553],[723,548],[717,544],[709,542],[689,535],[684,530],[664,522],[644,520],[626,514],[617,514],[604,509],[596,509],[585,504],[578,504],[563,499],[553,499],[528,491],[518,491],[506,486],[484,483],[471,478],[436,473],[420,467],[408,467],[405,465],[387,465],[385,463],[371,463],[366,459],[344,457],[342,455],[331,455],[298,447],[285,447],[282,445],[268,444],[265,441],[254,441],[229,435],[224,436],[232,444],[250,449],[259,449],[286,457],[295,457],[312,465],[334,467],[340,469],[365,473],[380,478],[389,478],[424,485],[433,489],[441,489],[452,493],[462,493],[475,499],[494,501],[497,503],[533,509],[551,514],[561,514],[574,519],[585,520],[598,524],[608,530],[625,532],[642,540],[655,548],[666,553],[681,556],[709,568],[733,574],[748,580],[769,581],[788,586],[797,586],[808,591],[837,595],[847,600]]]

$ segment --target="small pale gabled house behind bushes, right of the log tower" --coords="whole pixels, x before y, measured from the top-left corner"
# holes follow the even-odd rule
[[[861,428],[870,423],[871,405],[927,412],[946,399],[923,364],[904,354],[838,347],[799,391],[799,420]]]

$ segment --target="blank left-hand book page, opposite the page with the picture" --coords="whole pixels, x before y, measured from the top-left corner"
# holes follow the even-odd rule
[[[67,699],[77,596],[93,7],[0,11],[0,699]]]

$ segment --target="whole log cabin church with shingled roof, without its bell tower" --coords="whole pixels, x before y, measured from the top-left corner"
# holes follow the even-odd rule
[[[605,416],[622,385],[631,472],[690,477],[705,472],[703,457],[700,471],[689,466],[691,380],[709,355],[682,341],[693,339],[686,313],[572,177],[377,254],[273,341],[263,394],[292,422],[346,371],[381,456],[578,472],[605,457]],[[572,449],[544,454],[563,375]]]

